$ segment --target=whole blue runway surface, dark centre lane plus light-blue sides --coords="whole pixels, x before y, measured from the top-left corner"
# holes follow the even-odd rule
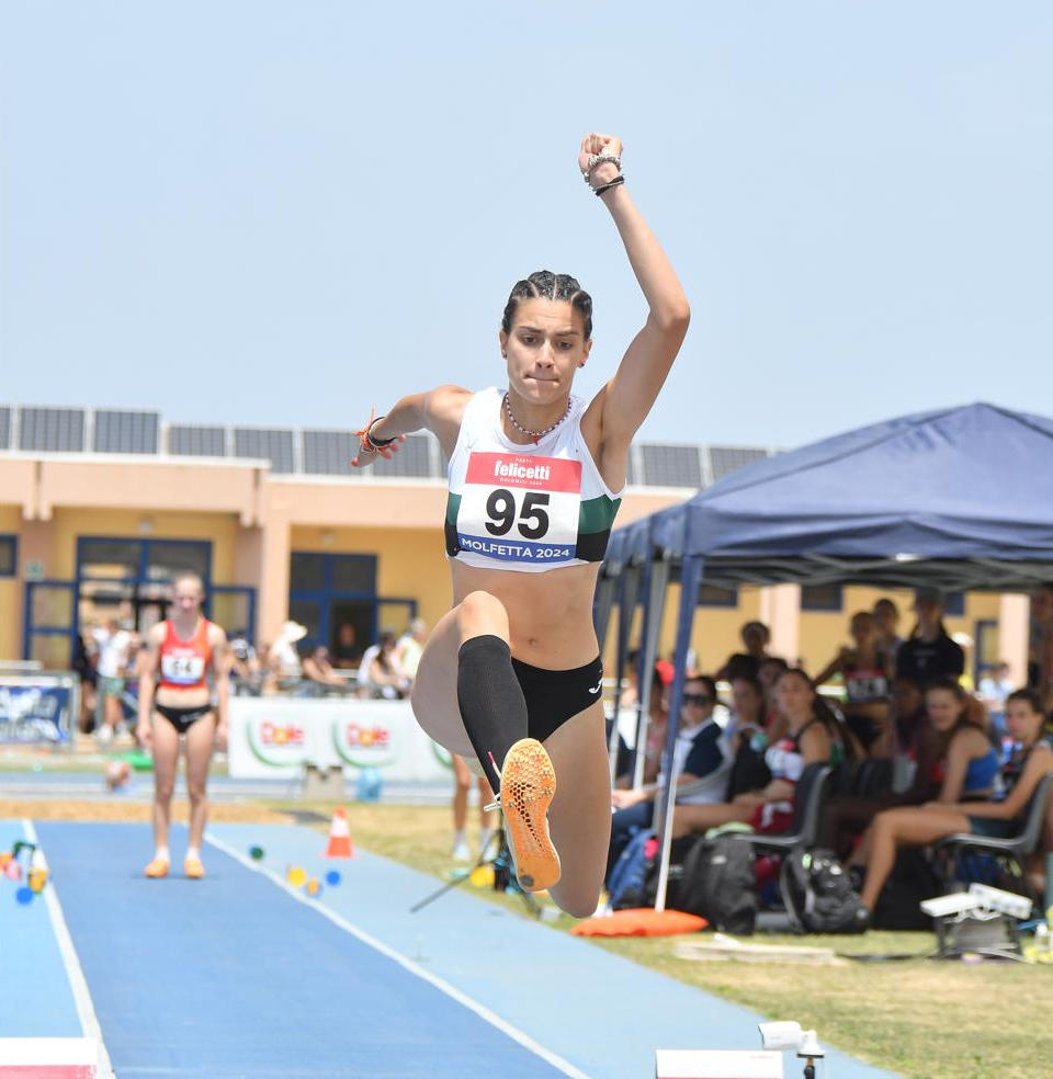
[[[469,887],[410,915],[433,877],[361,851],[327,862],[309,828],[213,826],[200,882],[182,876],[184,828],[165,881],[143,876],[144,825],[36,830],[117,1079],[647,1079],[657,1047],[757,1047],[755,1012]],[[0,821],[0,850],[19,838]],[[285,883],[292,865],[343,879],[306,900]],[[0,887],[0,1036],[80,1035],[47,908],[12,891]],[[837,1050],[827,1069],[895,1079]]]

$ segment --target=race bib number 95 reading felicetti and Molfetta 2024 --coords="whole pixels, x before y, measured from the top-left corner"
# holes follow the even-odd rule
[[[581,463],[526,454],[468,457],[457,542],[508,563],[570,561],[577,553]]]

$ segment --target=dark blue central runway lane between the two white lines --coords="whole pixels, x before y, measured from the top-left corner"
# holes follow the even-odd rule
[[[561,1075],[233,859],[147,881],[144,828],[37,832],[118,1079]]]

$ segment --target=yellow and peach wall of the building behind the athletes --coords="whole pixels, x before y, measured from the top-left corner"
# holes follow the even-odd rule
[[[686,495],[678,489],[632,491],[618,523],[627,524]],[[261,639],[273,639],[287,615],[293,550],[375,554],[378,594],[416,599],[420,615],[433,625],[450,603],[441,529],[444,506],[445,489],[434,480],[275,478],[254,463],[201,465],[171,458],[4,458],[0,533],[19,536],[20,573],[0,579],[0,659],[22,655],[26,561],[41,563],[46,578],[70,580],[77,538],[86,535],[211,541],[214,582],[258,589]],[[809,670],[819,669],[848,641],[852,612],[871,607],[883,594],[898,603],[901,633],[906,634],[913,624],[909,592],[850,587],[843,590],[841,611],[801,612],[796,633],[788,638],[796,640],[799,655],[786,658],[800,656]],[[673,646],[678,605],[679,589],[672,587],[659,638],[664,656]],[[738,650],[741,624],[765,618],[772,609],[770,591],[766,595],[757,588],[741,589],[734,607],[698,609],[692,647],[701,669],[717,669]],[[975,636],[977,620],[997,621],[998,614],[997,595],[972,594],[964,616],[948,618],[948,628]],[[616,625],[615,609],[604,650],[609,666],[615,656]],[[639,643],[638,613],[631,643]]]

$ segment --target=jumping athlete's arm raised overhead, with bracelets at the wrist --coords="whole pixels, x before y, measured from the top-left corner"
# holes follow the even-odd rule
[[[578,166],[587,172],[593,155],[620,158],[622,144],[616,138],[589,134],[581,140]],[[610,184],[619,174],[614,162],[603,161],[588,172],[588,179],[595,190]],[[627,452],[633,435],[647,418],[680,351],[691,311],[676,272],[633,204],[626,185],[619,183],[609,186],[599,197],[614,218],[630,265],[649,308],[644,328],[633,339],[614,377],[597,397],[605,457],[609,453]]]

